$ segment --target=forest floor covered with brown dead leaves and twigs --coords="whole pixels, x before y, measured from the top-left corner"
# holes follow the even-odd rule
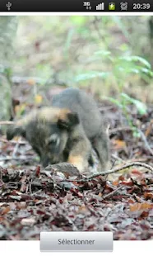
[[[21,138],[0,136],[0,239],[39,239],[40,231],[113,231],[114,239],[153,239],[153,106],[140,116],[130,107],[141,131],[134,137],[123,113],[100,102],[107,117],[112,169],[87,180],[77,172],[44,169]],[[73,180],[73,181],[72,181]]]

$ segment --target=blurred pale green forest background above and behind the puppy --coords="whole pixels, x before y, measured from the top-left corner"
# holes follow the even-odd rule
[[[152,48],[148,16],[0,17],[0,119],[47,105],[68,86],[145,113],[153,100]]]

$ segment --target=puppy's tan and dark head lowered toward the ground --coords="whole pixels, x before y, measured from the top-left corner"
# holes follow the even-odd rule
[[[63,151],[69,134],[78,124],[76,113],[54,107],[42,108],[9,127],[7,140],[21,135],[39,154],[44,166],[56,164],[64,160]]]

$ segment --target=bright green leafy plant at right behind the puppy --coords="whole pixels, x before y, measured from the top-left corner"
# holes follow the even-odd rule
[[[133,130],[134,136],[139,136],[139,132],[137,127],[133,126],[132,118],[129,115],[128,105],[133,104],[137,107],[137,111],[140,115],[145,115],[147,108],[144,103],[141,101],[130,97],[127,93],[124,92],[124,83],[126,83],[129,78],[137,75],[140,78],[143,78],[146,83],[151,81],[153,78],[153,72],[151,70],[151,64],[149,64],[146,59],[143,59],[139,56],[119,56],[114,57],[111,55],[109,51],[96,51],[95,54],[88,59],[88,61],[100,61],[106,59],[109,63],[109,71],[89,71],[87,73],[79,73],[75,80],[76,82],[85,81],[91,78],[102,78],[104,82],[107,79],[111,81],[114,80],[114,83],[117,84],[118,87],[118,99],[114,97],[103,97],[109,99],[109,101],[114,102],[118,107],[123,110],[123,115],[126,116],[128,125]]]

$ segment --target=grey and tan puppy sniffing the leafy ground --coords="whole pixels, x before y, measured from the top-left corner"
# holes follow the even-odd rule
[[[100,159],[101,171],[109,164],[109,138],[92,97],[67,88],[53,97],[51,107],[32,111],[7,130],[7,140],[23,136],[39,154],[44,166],[68,162],[83,172],[92,164],[91,149]]]

